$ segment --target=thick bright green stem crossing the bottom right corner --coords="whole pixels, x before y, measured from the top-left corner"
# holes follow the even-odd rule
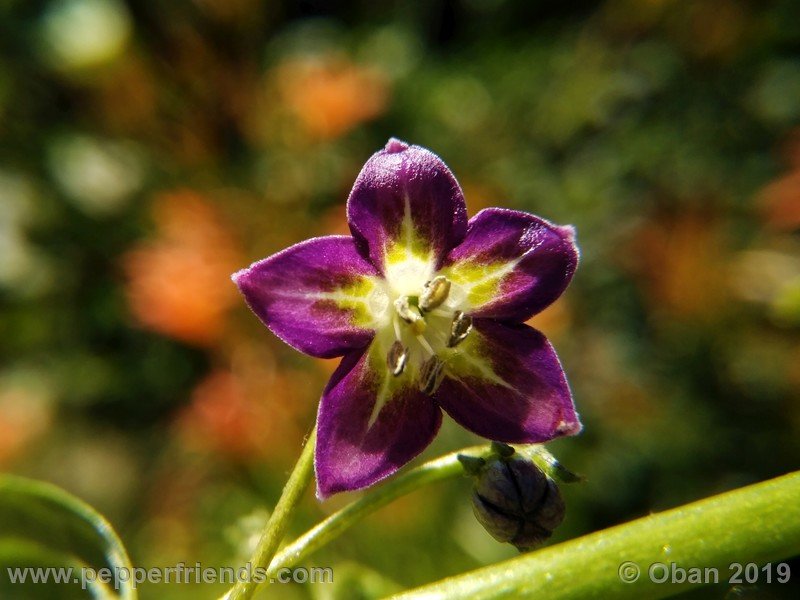
[[[717,569],[728,582],[731,563],[763,564],[800,553],[800,471],[713,496],[545,548],[393,598],[664,598],[702,585],[657,583],[662,567]],[[627,566],[623,566],[626,563]],[[631,567],[630,563],[635,564]],[[633,583],[622,579],[635,568]],[[669,574],[669,573],[667,573]],[[772,570],[776,581],[777,569]],[[740,575],[744,580],[744,575]],[[654,579],[656,581],[654,581]],[[713,581],[713,579],[712,579]],[[759,583],[766,573],[759,571]]]

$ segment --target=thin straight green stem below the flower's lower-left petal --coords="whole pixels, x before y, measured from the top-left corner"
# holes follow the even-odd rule
[[[303,497],[303,493],[308,488],[314,473],[314,446],[316,445],[316,440],[317,428],[314,426],[308,436],[306,445],[303,447],[303,452],[297,460],[294,471],[292,471],[289,481],[286,482],[283,488],[278,504],[267,522],[267,527],[264,529],[253,557],[250,559],[253,571],[257,568],[266,569],[269,566],[275,556],[275,552],[278,550],[278,545],[286,534],[292,514]],[[248,600],[253,597],[257,587],[258,583],[254,581],[240,581],[231,588],[224,598],[225,600]]]

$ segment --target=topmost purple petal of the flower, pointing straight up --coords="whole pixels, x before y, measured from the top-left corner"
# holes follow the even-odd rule
[[[359,248],[385,272],[387,255],[438,268],[464,238],[467,209],[455,177],[431,151],[391,139],[361,169],[347,202]]]

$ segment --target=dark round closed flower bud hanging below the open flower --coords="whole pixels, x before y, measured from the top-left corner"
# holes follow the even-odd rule
[[[564,500],[555,481],[515,454],[489,461],[472,490],[475,517],[498,542],[520,551],[544,543],[564,520]]]

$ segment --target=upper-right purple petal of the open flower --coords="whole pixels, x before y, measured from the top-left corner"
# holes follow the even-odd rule
[[[442,273],[461,288],[473,316],[525,321],[562,294],[577,266],[572,227],[488,208],[470,219]]]

